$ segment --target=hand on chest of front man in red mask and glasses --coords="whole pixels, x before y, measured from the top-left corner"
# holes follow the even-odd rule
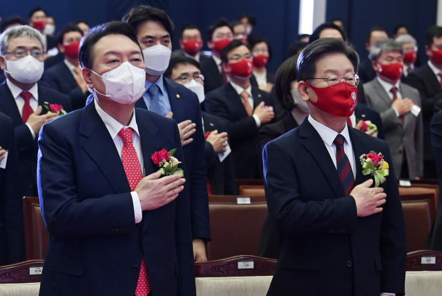
[[[381,206],[385,204],[387,195],[383,193],[384,188],[369,188],[372,184],[373,180],[369,179],[363,184],[355,186],[350,193],[356,201],[358,217],[367,217],[382,212]]]

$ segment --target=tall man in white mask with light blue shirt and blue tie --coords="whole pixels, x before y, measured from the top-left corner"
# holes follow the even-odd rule
[[[186,186],[191,193],[195,260],[206,261],[204,242],[211,236],[200,103],[194,92],[163,76],[171,58],[173,23],[166,12],[150,6],[132,8],[123,21],[137,31],[146,68],[146,92],[135,106],[173,117],[178,123],[186,170],[191,175]]]

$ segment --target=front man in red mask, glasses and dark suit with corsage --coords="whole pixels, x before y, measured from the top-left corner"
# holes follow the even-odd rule
[[[361,164],[373,157],[372,165],[386,169],[390,150],[347,124],[358,102],[357,70],[356,52],[336,38],[310,43],[298,58],[297,90],[310,114],[263,152],[269,215],[280,234],[267,296],[405,293],[406,233],[394,168],[378,184]]]

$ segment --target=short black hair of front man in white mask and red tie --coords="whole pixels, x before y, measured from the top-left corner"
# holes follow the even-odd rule
[[[133,26],[122,21],[110,21],[91,28],[89,34],[86,34],[86,36],[81,39],[78,55],[81,67],[92,68],[94,63],[93,52],[95,44],[99,39],[111,34],[122,34],[128,37],[137,44],[138,48],[140,48],[140,52],[142,52],[140,43],[138,43],[137,33]]]

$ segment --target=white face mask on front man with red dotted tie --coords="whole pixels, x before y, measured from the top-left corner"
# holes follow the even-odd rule
[[[106,86],[106,95],[94,88],[95,92],[104,97],[110,97],[117,103],[133,103],[144,94],[146,72],[142,68],[133,66],[128,61],[103,75],[98,75],[93,70],[90,71],[98,77],[102,77]]]

